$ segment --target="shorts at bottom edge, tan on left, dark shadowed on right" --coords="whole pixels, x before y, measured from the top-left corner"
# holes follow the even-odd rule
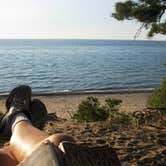
[[[50,141],[41,143],[19,166],[121,166],[111,147],[88,147],[62,142],[64,154],[58,156]]]

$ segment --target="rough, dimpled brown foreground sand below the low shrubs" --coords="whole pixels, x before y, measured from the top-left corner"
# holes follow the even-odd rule
[[[78,123],[50,115],[48,134],[66,133],[89,146],[113,147],[125,166],[166,164],[166,118],[149,125],[120,126],[109,121]]]

